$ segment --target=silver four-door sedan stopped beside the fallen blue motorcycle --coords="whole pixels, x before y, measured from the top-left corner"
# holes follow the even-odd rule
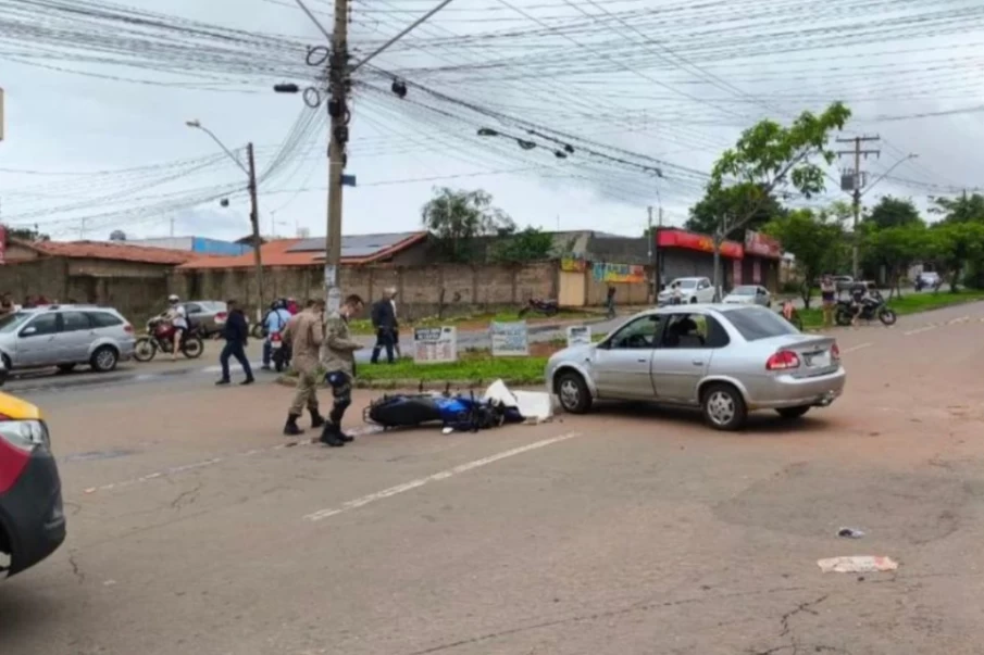
[[[846,378],[834,339],[737,304],[636,314],[597,344],[556,353],[546,370],[568,412],[587,412],[596,400],[653,401],[700,407],[719,430],[740,428],[756,410],[798,418],[830,405]]]

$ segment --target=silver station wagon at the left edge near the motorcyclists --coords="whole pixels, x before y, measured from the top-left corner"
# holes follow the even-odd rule
[[[51,305],[0,318],[0,357],[9,369],[88,364],[107,373],[134,354],[134,327],[116,310]]]

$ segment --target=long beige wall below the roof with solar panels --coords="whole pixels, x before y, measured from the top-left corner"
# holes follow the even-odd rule
[[[264,300],[297,299],[322,294],[321,266],[264,268]],[[400,314],[407,317],[446,315],[524,304],[528,298],[557,297],[557,264],[541,262],[525,266],[459,265],[342,267],[339,284],[344,293],[358,293],[369,301],[382,297],[386,287],[396,287]],[[171,292],[188,300],[229,300],[256,305],[256,276],[252,268],[173,270]]]

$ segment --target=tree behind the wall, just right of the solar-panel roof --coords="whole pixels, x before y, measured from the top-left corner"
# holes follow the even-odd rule
[[[515,231],[512,218],[493,206],[491,201],[491,196],[481,189],[435,188],[421,210],[421,219],[449,259],[466,262],[474,256],[475,238]]]

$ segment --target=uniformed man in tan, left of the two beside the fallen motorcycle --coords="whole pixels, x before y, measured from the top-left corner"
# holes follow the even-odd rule
[[[317,411],[317,363],[321,345],[324,343],[325,301],[311,300],[304,311],[287,322],[284,340],[290,344],[294,354],[294,370],[297,371],[297,392],[287,411],[287,424],[284,434],[296,437],[303,433],[297,419],[307,407],[311,415],[311,428],[320,428],[325,424]]]

